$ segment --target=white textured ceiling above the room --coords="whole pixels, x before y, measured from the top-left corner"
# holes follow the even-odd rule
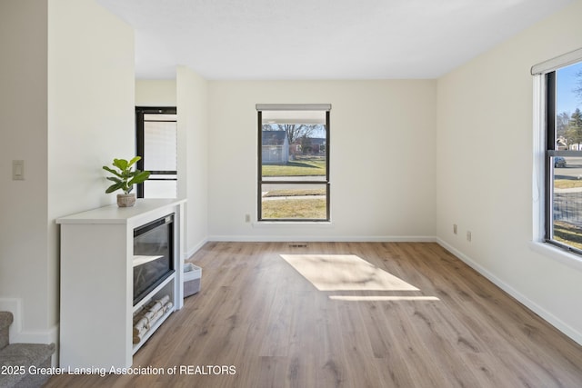
[[[138,78],[435,78],[572,0],[98,0]]]

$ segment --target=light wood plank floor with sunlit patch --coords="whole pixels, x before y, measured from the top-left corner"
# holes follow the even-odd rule
[[[437,244],[290,245],[206,244],[192,258],[201,292],[134,356],[134,366],[211,374],[64,375],[47,386],[582,386],[582,347]],[[372,265],[339,264],[366,279],[313,274],[327,284],[320,291],[282,254]]]

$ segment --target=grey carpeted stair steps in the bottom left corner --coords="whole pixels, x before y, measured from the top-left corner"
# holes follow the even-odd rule
[[[50,368],[55,343],[9,343],[8,330],[14,317],[0,312],[0,388],[43,386],[48,374],[30,374],[29,368]]]

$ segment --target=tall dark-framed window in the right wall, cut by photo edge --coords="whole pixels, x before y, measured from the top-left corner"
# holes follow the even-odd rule
[[[581,53],[582,54],[582,53]],[[544,239],[582,254],[582,55],[543,72]]]

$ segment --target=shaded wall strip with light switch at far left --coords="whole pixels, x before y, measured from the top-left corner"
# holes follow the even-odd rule
[[[24,308],[30,331],[55,323],[46,295],[56,282],[46,254],[46,28],[46,1],[0,2],[0,308],[15,313],[15,329]],[[15,159],[25,161],[24,181],[12,180]]]

